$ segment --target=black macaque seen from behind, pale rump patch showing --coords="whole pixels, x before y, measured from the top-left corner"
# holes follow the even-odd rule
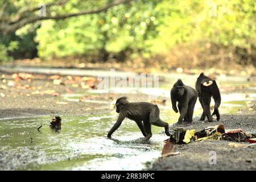
[[[204,110],[200,121],[204,121],[205,116],[207,116],[208,122],[212,122],[213,115],[216,115],[217,121],[219,121],[220,113],[218,107],[220,107],[221,104],[221,96],[216,81],[205,76],[204,73],[201,73],[196,81],[196,91],[199,93],[199,101]],[[215,105],[214,111],[212,115],[210,115],[210,100],[212,97]]]

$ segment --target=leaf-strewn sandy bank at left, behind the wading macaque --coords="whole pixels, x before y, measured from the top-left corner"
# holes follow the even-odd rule
[[[97,89],[94,77],[3,72],[0,77],[0,119],[109,113],[118,97],[148,100],[141,93],[91,93]]]

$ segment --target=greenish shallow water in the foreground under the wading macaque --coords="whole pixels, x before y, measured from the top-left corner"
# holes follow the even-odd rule
[[[49,128],[50,117],[1,121],[0,169],[143,169],[144,163],[160,156],[168,137],[159,134],[159,127],[152,127],[154,135],[144,143],[136,123],[126,119],[113,140],[106,138],[116,118],[114,113],[63,117],[59,131]]]

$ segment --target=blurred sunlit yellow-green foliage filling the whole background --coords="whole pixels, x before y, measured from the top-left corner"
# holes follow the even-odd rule
[[[11,2],[7,10],[10,17],[15,17],[15,11],[36,7],[41,1]],[[44,1],[49,2],[52,1]],[[70,0],[47,13],[76,13],[97,9],[108,2],[111,1]],[[6,57],[7,52],[11,52],[11,41],[19,42],[16,53],[28,52],[38,43],[38,55],[46,58],[102,52],[130,52],[132,57],[150,58],[181,44],[195,45],[196,42],[250,52],[256,47],[255,19],[255,0],[134,0],[98,14],[44,20],[39,28],[36,28],[39,23],[32,28],[30,24],[16,31],[15,36],[0,40],[0,53]]]

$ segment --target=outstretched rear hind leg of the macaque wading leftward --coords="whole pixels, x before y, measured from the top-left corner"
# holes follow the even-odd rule
[[[150,112],[150,123],[155,126],[164,127],[165,133],[167,136],[171,136],[169,133],[169,124],[167,122],[163,122],[159,117],[160,111],[158,106],[155,106],[154,109]]]

